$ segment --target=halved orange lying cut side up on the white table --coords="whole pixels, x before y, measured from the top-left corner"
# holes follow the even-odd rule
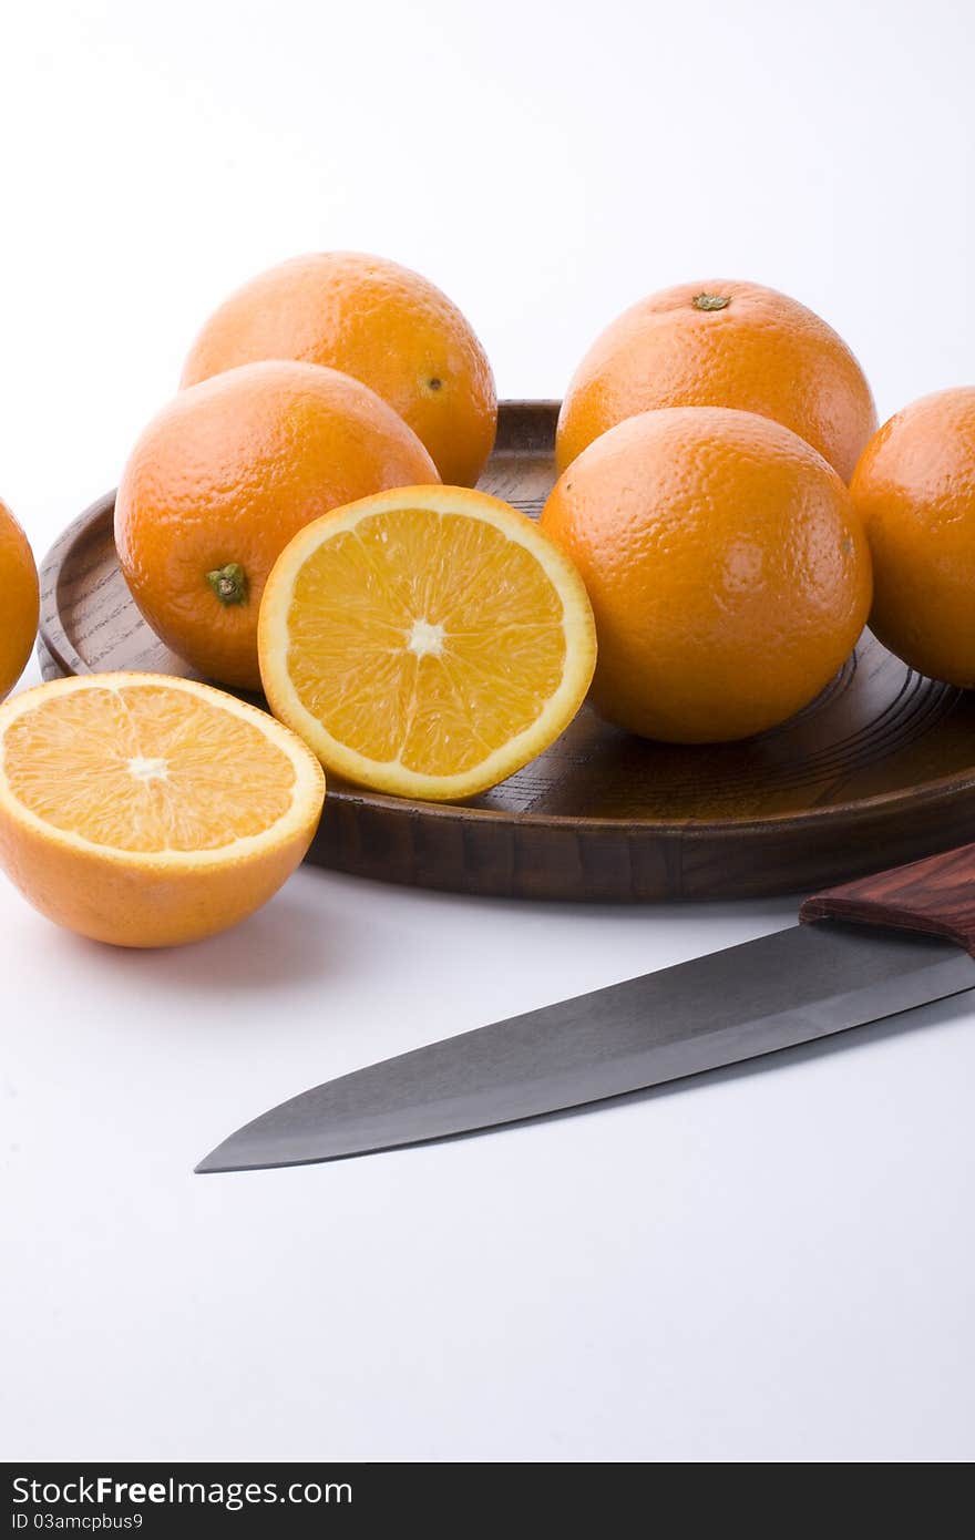
[[[179,946],[243,919],[305,855],[323,796],[294,733],[189,679],[59,679],[0,707],[0,864],[95,941]]]

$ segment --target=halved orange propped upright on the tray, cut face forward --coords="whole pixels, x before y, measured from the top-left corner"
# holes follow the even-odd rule
[[[575,567],[525,514],[457,487],[336,508],[260,604],[274,713],[359,785],[456,801],[547,748],[596,662]]]

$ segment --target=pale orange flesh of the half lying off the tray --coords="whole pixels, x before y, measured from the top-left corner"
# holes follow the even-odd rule
[[[250,722],[185,690],[57,695],[3,738],[14,796],[43,822],[142,853],[219,850],[293,802],[296,773]]]

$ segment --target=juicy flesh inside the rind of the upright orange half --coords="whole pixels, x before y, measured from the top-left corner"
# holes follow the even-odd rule
[[[491,524],[376,513],[307,557],[288,608],[288,675],[340,744],[457,775],[531,727],[565,668],[562,599]]]

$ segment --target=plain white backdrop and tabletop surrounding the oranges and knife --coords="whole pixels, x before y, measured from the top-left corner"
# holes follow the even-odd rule
[[[975,374],[967,0],[8,6],[0,493],[39,556],[214,303],[379,251],[558,396],[665,283],[752,277],[881,416]],[[35,670],[26,676],[35,676]],[[0,882],[0,1455],[975,1455],[975,1021],[491,1138],[196,1178],[271,1103],[786,924],[299,873],[125,955]]]

